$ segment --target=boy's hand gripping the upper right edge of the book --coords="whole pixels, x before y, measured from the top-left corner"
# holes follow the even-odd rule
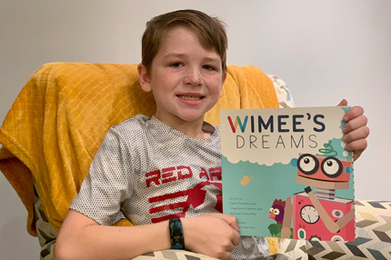
[[[342,100],[338,106],[346,106],[347,101]],[[345,136],[342,140],[346,143],[346,150],[353,151],[353,158],[356,159],[364,152],[367,146],[366,137],[369,135],[368,122],[361,106],[353,106],[344,116],[346,125],[342,129]]]

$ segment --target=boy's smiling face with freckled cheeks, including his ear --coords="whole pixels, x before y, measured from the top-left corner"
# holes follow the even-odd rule
[[[142,88],[155,96],[155,116],[171,126],[203,121],[226,80],[220,56],[206,50],[185,27],[165,34],[149,75],[143,65],[138,72]]]

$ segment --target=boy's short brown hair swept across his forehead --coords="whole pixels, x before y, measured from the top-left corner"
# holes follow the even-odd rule
[[[217,17],[211,17],[196,10],[178,10],[158,15],[146,23],[142,39],[142,63],[149,74],[165,33],[175,26],[190,29],[207,50],[220,55],[223,72],[226,72],[227,38],[225,24]]]

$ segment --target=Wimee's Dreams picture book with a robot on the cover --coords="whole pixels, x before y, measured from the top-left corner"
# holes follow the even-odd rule
[[[223,212],[240,235],[354,241],[349,107],[220,112]]]

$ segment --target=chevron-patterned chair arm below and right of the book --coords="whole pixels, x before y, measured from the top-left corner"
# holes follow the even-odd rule
[[[280,253],[305,259],[391,259],[391,202],[356,200],[356,240],[279,240]]]

